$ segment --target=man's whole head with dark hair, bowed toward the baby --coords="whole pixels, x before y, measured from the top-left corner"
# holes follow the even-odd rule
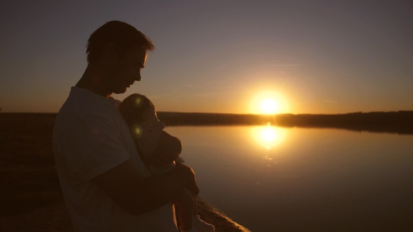
[[[125,22],[110,21],[87,41],[87,62],[104,69],[105,75],[94,81],[104,82],[108,94],[121,94],[135,80],[141,80],[147,51],[154,49],[151,39],[141,31]]]

